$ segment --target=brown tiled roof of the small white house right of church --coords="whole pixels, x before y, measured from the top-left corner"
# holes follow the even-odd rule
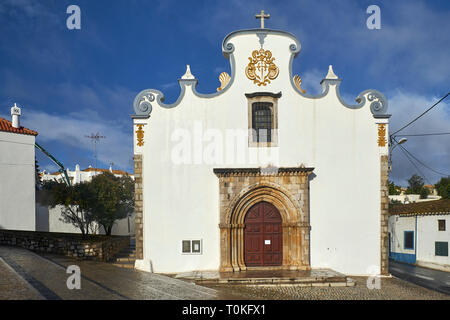
[[[450,199],[395,204],[389,208],[389,214],[422,215],[422,214],[450,214]]]

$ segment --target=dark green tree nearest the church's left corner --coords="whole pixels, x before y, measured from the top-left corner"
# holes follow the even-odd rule
[[[92,207],[95,221],[111,235],[116,220],[134,210],[134,181],[128,176],[116,177],[104,172],[92,178],[91,190],[96,201]]]

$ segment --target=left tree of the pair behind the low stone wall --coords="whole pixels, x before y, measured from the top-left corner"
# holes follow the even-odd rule
[[[97,226],[92,210],[96,199],[90,183],[81,182],[67,186],[63,182],[46,181],[39,199],[42,204],[51,208],[61,205],[60,220],[80,229],[83,237],[96,232]]]

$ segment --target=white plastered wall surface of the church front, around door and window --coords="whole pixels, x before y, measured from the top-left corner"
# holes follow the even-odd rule
[[[272,163],[315,168],[310,183],[311,266],[347,274],[379,270],[380,154],[386,154],[387,147],[377,145],[377,123],[387,121],[375,119],[368,104],[360,109],[343,106],[335,85],[321,99],[295,92],[288,71],[292,39],[267,35],[264,48],[272,51],[280,71],[278,78],[265,87],[253,84],[244,72],[251,52],[260,48],[258,37],[241,34],[230,42],[235,46],[236,77],[228,91],[207,99],[195,96],[187,87],[177,107],[166,109],[153,103],[149,119],[134,120],[135,124],[145,124],[144,146],[136,145],[134,134],[135,153],[143,154],[144,264],[151,264],[154,272],[218,269],[219,186],[213,168]],[[191,70],[195,75],[195,64]],[[171,152],[179,140],[172,141],[172,134],[177,129],[186,130],[184,137],[195,135],[199,128],[222,134],[228,129],[247,130],[244,94],[260,91],[282,92],[278,100],[279,143],[269,148],[279,161],[263,158],[253,163],[229,163],[224,159],[205,163],[194,159],[194,163],[174,163]],[[238,143],[247,146],[247,136]],[[204,143],[204,147],[207,145]],[[246,149],[253,156],[265,151],[267,148]],[[203,240],[203,254],[181,254],[184,239]]]

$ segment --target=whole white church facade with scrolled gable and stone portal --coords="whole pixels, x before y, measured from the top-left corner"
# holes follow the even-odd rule
[[[387,100],[343,101],[331,66],[308,94],[300,49],[263,25],[235,31],[217,92],[197,92],[188,66],[174,103],[136,96],[136,268],[388,273]]]

